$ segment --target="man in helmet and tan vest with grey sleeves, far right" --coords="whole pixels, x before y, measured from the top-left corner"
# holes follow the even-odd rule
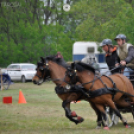
[[[120,64],[126,66],[123,75],[130,77],[130,73],[134,69],[134,46],[126,43],[126,36],[124,34],[118,34],[114,39],[118,44],[117,54],[120,58]],[[118,66],[116,64],[116,66]]]

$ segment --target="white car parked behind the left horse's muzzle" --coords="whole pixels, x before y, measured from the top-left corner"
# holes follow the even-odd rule
[[[32,80],[36,73],[36,65],[30,63],[16,63],[10,64],[5,73],[7,73],[12,81],[22,81],[25,83]]]

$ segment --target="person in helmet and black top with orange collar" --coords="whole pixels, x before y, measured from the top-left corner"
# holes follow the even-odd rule
[[[109,70],[115,68],[115,64],[120,62],[120,59],[116,53],[116,46],[113,46],[111,39],[104,39],[100,44],[102,49],[106,52],[106,63],[108,65]],[[112,70],[111,73],[118,73],[120,69]]]

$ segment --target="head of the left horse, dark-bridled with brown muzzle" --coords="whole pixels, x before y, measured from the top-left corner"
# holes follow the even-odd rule
[[[41,57],[41,61],[37,63],[36,74],[32,81],[34,84],[40,85],[49,77],[48,61]]]

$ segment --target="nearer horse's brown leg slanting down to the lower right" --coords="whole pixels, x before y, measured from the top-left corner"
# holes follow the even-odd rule
[[[123,125],[126,127],[126,128],[129,128],[129,125],[127,123],[127,120],[120,114],[119,110],[116,108],[115,104],[113,103],[112,100],[108,100],[107,101],[107,104],[109,107],[111,107],[113,109],[113,111],[115,112],[115,114],[121,119]]]

